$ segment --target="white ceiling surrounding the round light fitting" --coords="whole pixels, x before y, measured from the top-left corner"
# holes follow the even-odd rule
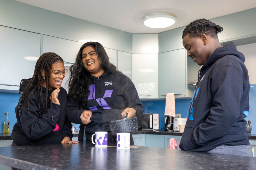
[[[100,25],[131,33],[159,33],[188,25],[199,18],[212,19],[256,7],[256,0],[17,0]],[[177,22],[167,28],[148,28],[142,19],[168,13]]]

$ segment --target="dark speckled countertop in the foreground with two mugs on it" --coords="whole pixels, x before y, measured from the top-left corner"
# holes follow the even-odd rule
[[[118,150],[91,143],[0,147],[0,164],[20,169],[255,169],[256,159],[153,147]]]

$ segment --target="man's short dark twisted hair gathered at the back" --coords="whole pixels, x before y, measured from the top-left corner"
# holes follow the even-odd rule
[[[207,19],[197,19],[186,26],[182,33],[182,39],[189,34],[191,38],[198,38],[201,34],[210,35],[212,38],[218,38],[217,34],[223,31],[220,25],[216,25]]]

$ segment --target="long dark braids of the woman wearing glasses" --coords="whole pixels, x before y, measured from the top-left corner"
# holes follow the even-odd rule
[[[39,59],[36,62],[34,74],[32,78],[28,79],[29,83],[25,90],[23,91],[22,95],[20,96],[19,103],[18,103],[18,112],[19,115],[21,116],[21,105],[25,99],[25,97],[28,94],[28,91],[32,89],[31,93],[28,96],[28,114],[30,114],[29,111],[29,100],[32,95],[32,93],[35,91],[36,87],[38,87],[38,102],[39,102],[39,118],[46,113],[47,109],[49,108],[50,105],[50,96],[52,94],[52,64],[60,61],[63,62],[62,58],[55,54],[55,53],[43,53]],[[43,71],[45,71],[45,76],[43,77]],[[21,83],[24,79],[20,81],[20,88],[21,88]],[[43,94],[42,94],[42,83],[46,81],[46,108],[44,108],[44,103],[43,103]],[[20,93],[20,90],[19,90]],[[40,109],[40,103],[43,106],[43,114],[41,115],[41,109]],[[52,108],[52,103],[51,103],[51,108]],[[53,122],[53,115],[52,115],[52,122]]]

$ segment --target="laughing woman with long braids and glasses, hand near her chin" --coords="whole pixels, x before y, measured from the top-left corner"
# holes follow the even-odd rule
[[[65,114],[67,92],[60,87],[67,71],[59,55],[44,53],[32,78],[20,82],[23,93],[15,108],[12,146],[77,143],[71,141],[71,124]]]

